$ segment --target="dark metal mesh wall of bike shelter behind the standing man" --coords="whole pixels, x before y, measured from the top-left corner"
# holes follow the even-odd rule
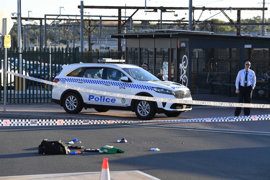
[[[255,71],[257,77],[252,98],[269,102],[269,90],[265,88],[268,82],[264,78],[270,70],[269,49],[245,49],[244,59],[251,62],[250,69]],[[193,97],[211,101],[209,94],[213,95],[213,99],[215,95],[223,95],[221,102],[226,101],[226,97],[237,97],[235,80],[240,69],[244,69],[244,64],[240,64],[240,49],[193,49]],[[266,92],[264,95],[258,93],[262,89]]]

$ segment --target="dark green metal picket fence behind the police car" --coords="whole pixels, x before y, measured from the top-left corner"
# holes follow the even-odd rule
[[[4,59],[4,49],[0,59]],[[22,49],[22,63],[18,62],[18,49],[8,49],[9,69],[13,72],[36,77],[39,79],[53,80],[55,73],[59,72],[61,65],[73,63],[96,63],[100,58],[121,59],[125,58],[123,52],[84,52],[80,53],[78,48],[47,48],[47,49]],[[50,58],[51,57],[51,58]],[[51,60],[51,63],[50,63]],[[4,61],[1,61],[1,69],[4,67]],[[49,72],[51,67],[51,78]],[[27,72],[27,73],[26,73]],[[0,73],[2,85],[0,86],[1,101],[4,101],[3,93],[3,74]],[[33,80],[14,77],[7,74],[7,82],[12,85],[7,86],[7,103],[8,104],[46,104],[52,103],[50,88],[44,83]]]

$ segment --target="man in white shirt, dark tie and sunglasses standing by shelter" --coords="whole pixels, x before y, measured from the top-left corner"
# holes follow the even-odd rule
[[[249,61],[244,64],[245,69],[242,69],[238,72],[235,86],[235,93],[238,95],[238,103],[251,103],[252,91],[256,85],[256,76],[255,72],[250,68],[251,63]],[[235,116],[239,116],[241,113],[241,107],[236,107],[234,112]],[[250,115],[250,108],[244,107],[244,115]]]

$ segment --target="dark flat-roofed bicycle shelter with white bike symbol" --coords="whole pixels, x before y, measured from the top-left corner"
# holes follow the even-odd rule
[[[111,37],[126,40],[126,63],[147,63],[153,74],[190,88],[195,100],[219,97],[226,102],[224,96],[236,97],[236,75],[248,60],[257,77],[252,98],[270,101],[266,76],[270,70],[270,38],[266,36],[161,29]],[[258,94],[262,89],[265,94]]]

